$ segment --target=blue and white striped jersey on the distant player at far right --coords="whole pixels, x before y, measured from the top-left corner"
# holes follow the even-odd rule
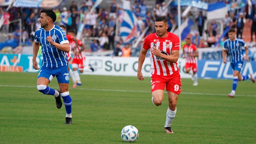
[[[223,49],[224,50],[228,49],[231,63],[244,61],[244,56],[242,54],[242,47],[246,47],[246,44],[242,39],[236,38],[234,41],[231,41],[230,39],[224,41]]]

